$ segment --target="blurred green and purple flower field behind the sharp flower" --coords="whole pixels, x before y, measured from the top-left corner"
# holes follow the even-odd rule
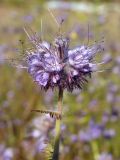
[[[56,110],[57,90],[41,91],[10,61],[21,55],[19,40],[28,47],[24,26],[40,34],[42,19],[43,39],[54,40],[58,28],[48,8],[58,22],[65,19],[61,30],[71,48],[87,44],[89,24],[89,44],[104,39],[98,60],[112,58],[82,91],[65,91],[60,160],[119,160],[120,4],[109,0],[0,0],[0,160],[44,160],[42,137],[54,140],[54,120],[31,110]]]

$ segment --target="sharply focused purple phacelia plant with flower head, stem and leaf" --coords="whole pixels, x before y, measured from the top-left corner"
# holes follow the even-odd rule
[[[99,66],[106,62],[96,63],[95,56],[103,50],[102,42],[93,45],[80,45],[70,49],[70,38],[59,33],[52,43],[39,39],[34,33],[28,36],[32,49],[25,50],[24,65],[33,80],[47,91],[58,89],[58,111],[33,110],[50,114],[56,119],[56,137],[52,160],[59,159],[60,124],[62,119],[63,92],[72,92],[74,89],[82,89],[84,83],[91,74],[99,70]],[[31,32],[31,30],[29,30]]]

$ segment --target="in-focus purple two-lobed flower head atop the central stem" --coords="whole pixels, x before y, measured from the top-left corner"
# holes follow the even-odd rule
[[[54,87],[68,91],[81,89],[87,76],[103,64],[93,62],[102,50],[101,43],[69,49],[69,39],[63,36],[55,38],[53,44],[28,37],[34,45],[33,50],[26,51],[28,72],[45,90]]]

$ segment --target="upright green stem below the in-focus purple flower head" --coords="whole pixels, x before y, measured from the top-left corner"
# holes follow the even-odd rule
[[[63,99],[63,90],[62,88],[59,88],[58,111],[61,115],[62,115],[62,99]],[[60,126],[61,126],[61,119],[56,119],[56,125],[55,125],[56,137],[55,137],[52,160],[59,160]]]

